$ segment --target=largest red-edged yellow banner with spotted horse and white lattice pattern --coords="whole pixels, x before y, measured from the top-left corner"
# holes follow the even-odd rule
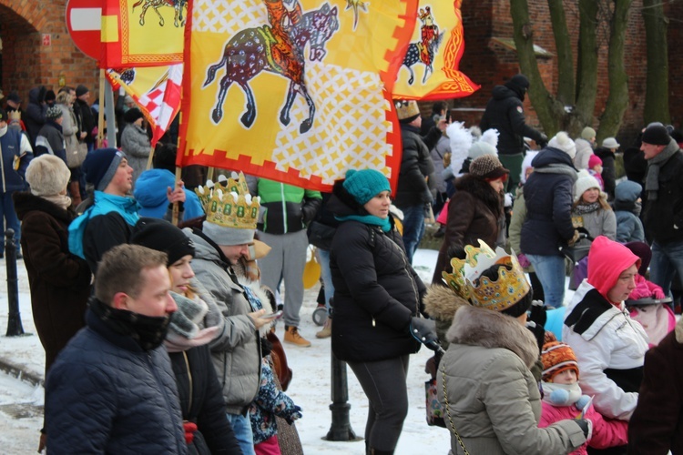
[[[395,185],[417,2],[190,0],[178,166],[321,190],[371,167]]]

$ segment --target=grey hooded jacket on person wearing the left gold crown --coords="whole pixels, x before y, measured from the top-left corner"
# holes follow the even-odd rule
[[[230,414],[241,414],[259,392],[259,332],[247,316],[257,308],[251,307],[244,288],[235,282],[237,278],[222,253],[191,229],[183,231],[195,244],[192,269],[218,305],[225,321],[218,337],[209,343],[209,348],[226,409]]]

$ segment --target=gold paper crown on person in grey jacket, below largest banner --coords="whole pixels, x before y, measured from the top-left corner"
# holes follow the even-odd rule
[[[239,176],[233,172],[231,177],[219,179],[218,184],[209,180],[204,187],[195,189],[195,193],[209,223],[236,229],[256,229],[260,197],[251,197],[247,180],[241,172]]]

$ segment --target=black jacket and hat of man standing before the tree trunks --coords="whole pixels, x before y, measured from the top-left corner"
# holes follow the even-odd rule
[[[524,152],[524,138],[531,137],[536,142],[544,142],[540,132],[525,123],[524,104],[514,90],[506,86],[494,86],[493,97],[489,100],[479,124],[482,132],[495,128],[498,136],[498,153],[515,155]]]

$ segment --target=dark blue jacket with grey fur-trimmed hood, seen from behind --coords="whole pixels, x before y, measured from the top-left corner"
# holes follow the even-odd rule
[[[574,237],[572,203],[576,169],[572,158],[545,147],[531,162],[534,172],[526,180],[526,220],[520,248],[530,255],[561,256],[560,244]]]

